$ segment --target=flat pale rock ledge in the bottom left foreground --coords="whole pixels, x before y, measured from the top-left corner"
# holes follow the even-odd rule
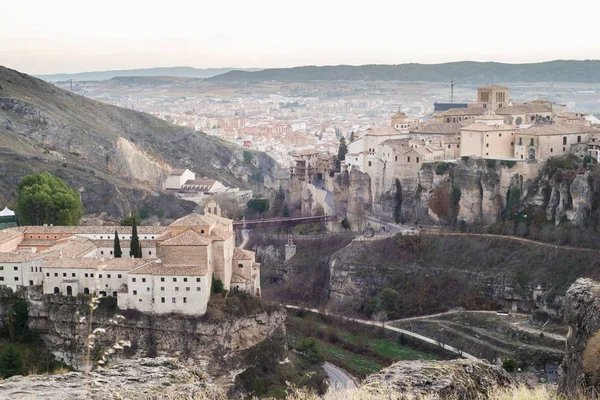
[[[189,396],[185,398],[225,398],[218,393],[222,391],[207,385],[201,368],[167,357],[121,359],[89,375],[68,372],[13,376],[0,381],[0,396],[13,400],[159,400],[180,398],[177,394]]]

